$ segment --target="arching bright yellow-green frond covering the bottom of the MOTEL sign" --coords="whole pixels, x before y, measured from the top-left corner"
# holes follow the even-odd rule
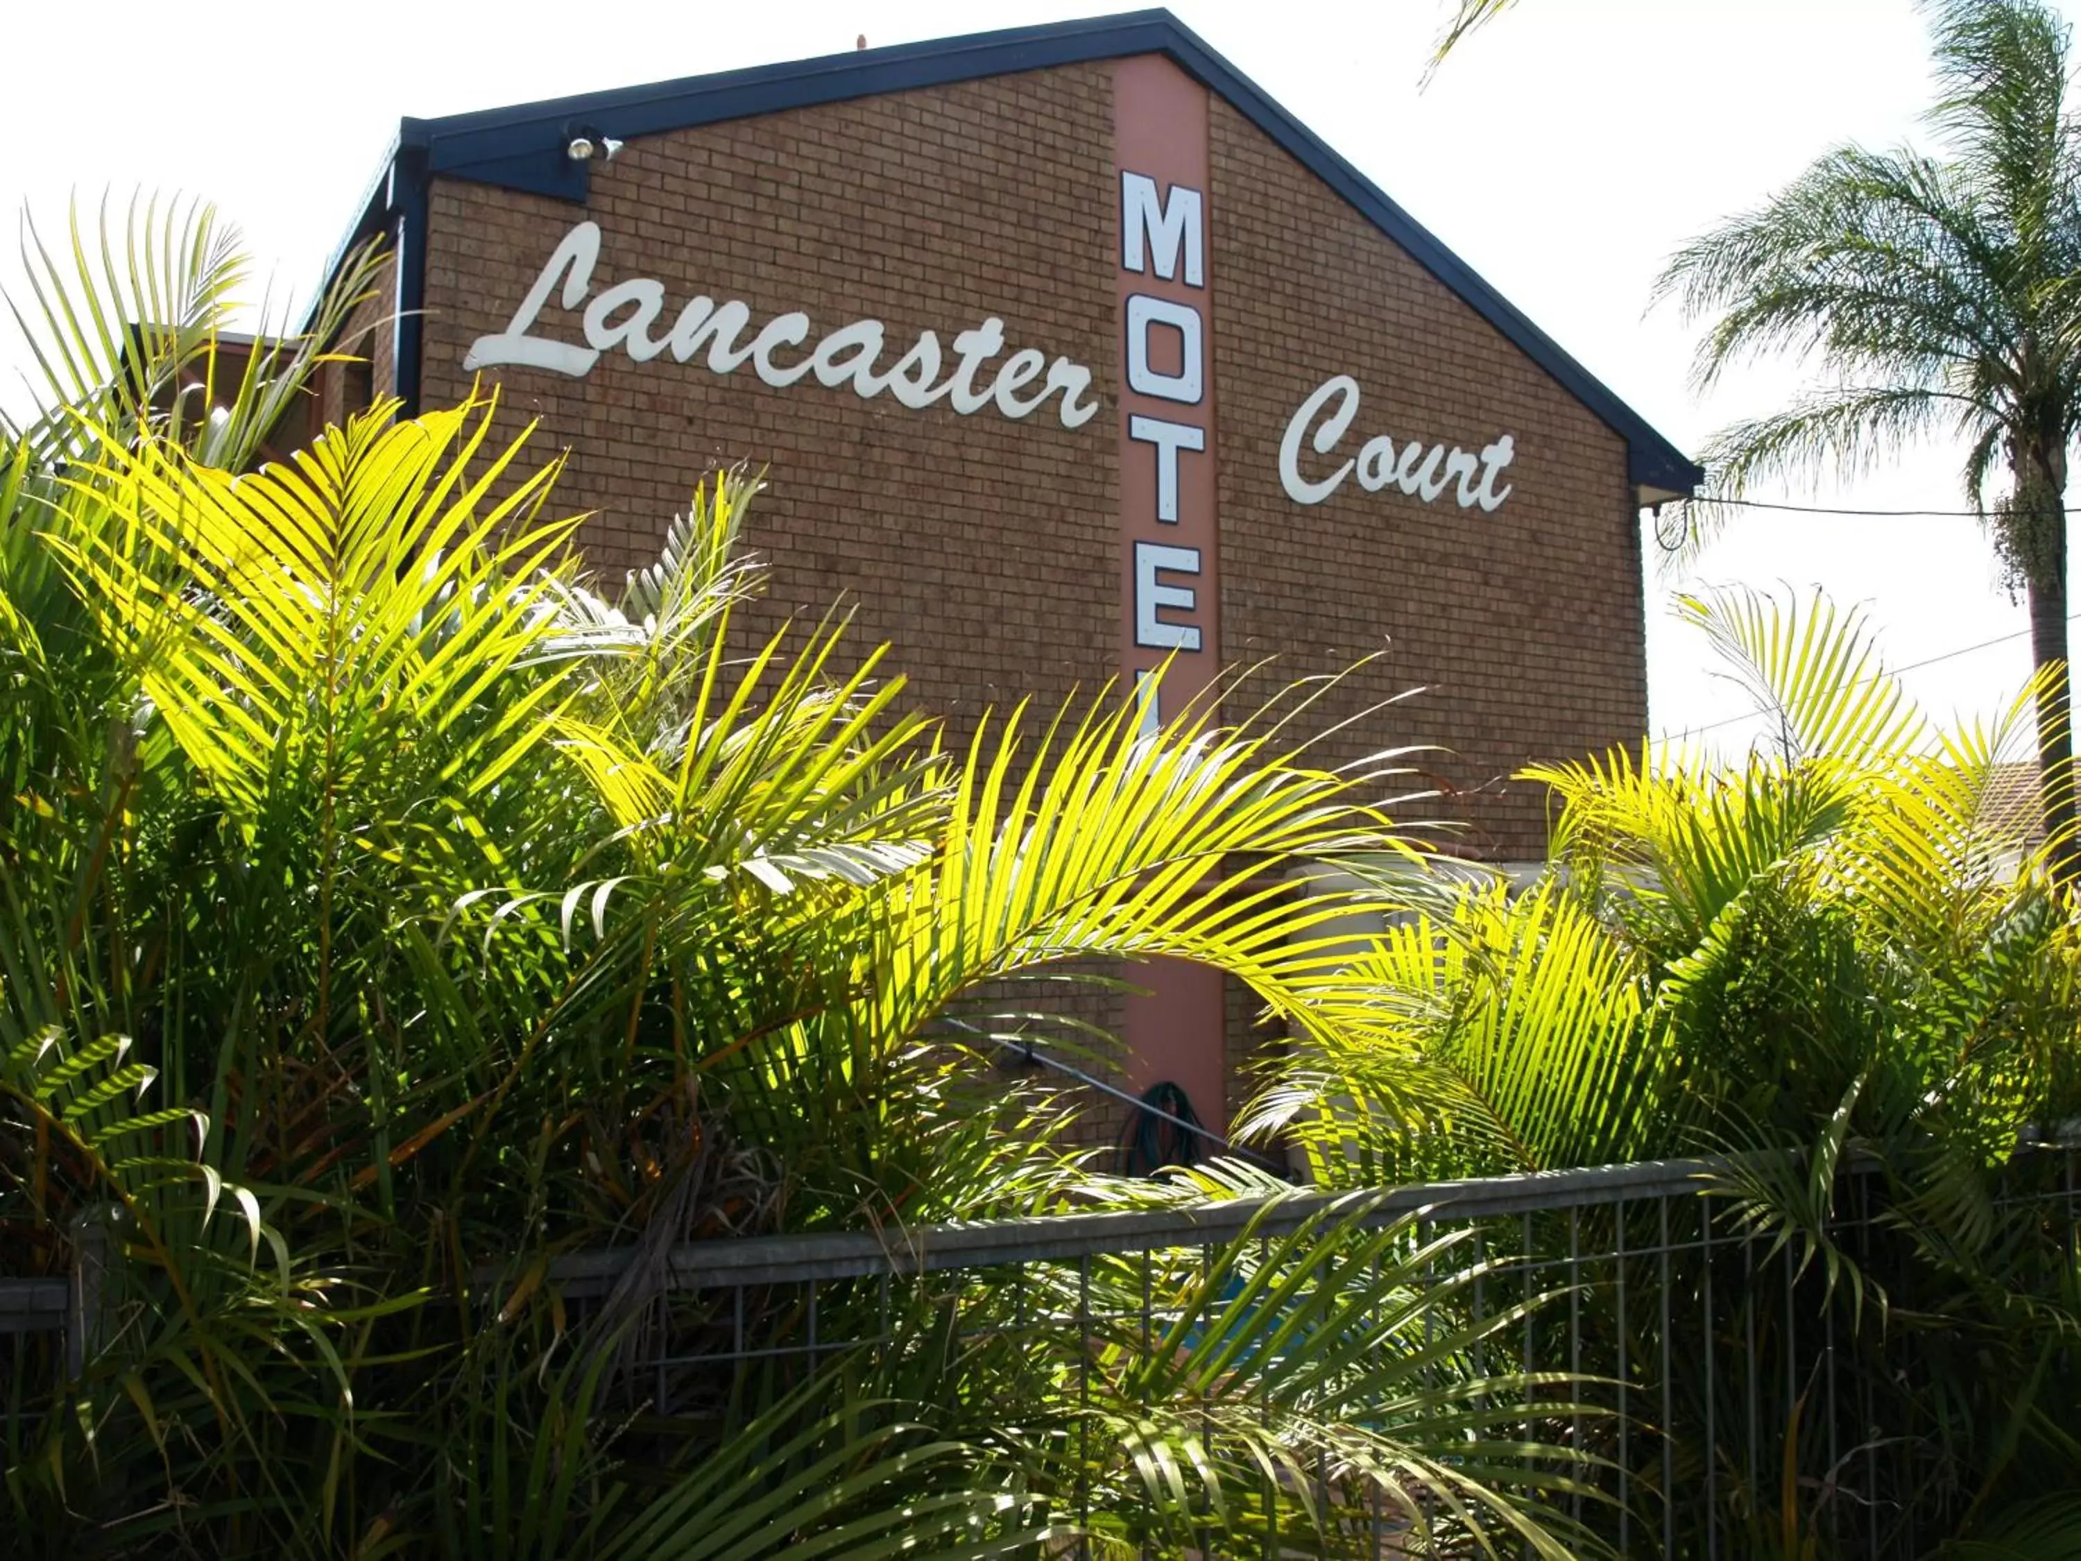
[[[911,1030],[978,982],[1115,955],[1217,964],[1307,1024],[1290,980],[1353,907],[1296,901],[1278,874],[1359,853],[1413,855],[1348,776],[1249,722],[1217,728],[1205,703],[1142,737],[1132,703],[1101,697],[1032,747],[1013,712],[970,743],[934,860],[889,907],[880,1022]]]

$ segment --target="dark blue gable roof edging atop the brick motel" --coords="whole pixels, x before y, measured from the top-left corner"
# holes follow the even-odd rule
[[[1688,495],[1704,481],[1696,462],[1613,395],[1421,223],[1388,200],[1386,191],[1371,179],[1338,156],[1319,135],[1265,96],[1257,83],[1215,54],[1167,10],[1011,27],[995,33],[683,77],[647,87],[587,92],[574,98],[549,98],[443,119],[406,119],[397,127],[397,142],[370,191],[362,219],[350,233],[350,241],[354,241],[393,219],[404,219],[397,241],[402,266],[397,385],[410,395],[418,381],[418,318],[414,310],[425,302],[425,204],[427,181],[433,175],[585,202],[591,164],[564,154],[572,135],[581,131],[628,142],[785,108],[943,87],[980,77],[1088,65],[1130,54],[1163,54],[1209,92],[1226,98],[1257,129],[1450,287],[1475,314],[1496,327],[1532,362],[1552,375],[1577,402],[1625,439],[1627,477],[1642,502]],[[337,256],[333,264],[337,264]]]

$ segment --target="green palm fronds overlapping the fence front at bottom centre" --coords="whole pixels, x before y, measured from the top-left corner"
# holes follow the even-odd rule
[[[1338,1553],[1384,1528],[1446,1553],[1573,1553],[1561,1503],[1588,1486],[1527,1434],[1527,1411],[1534,1397],[1540,1424],[1600,1411],[1575,1403],[1565,1372],[1469,1372],[1555,1297],[1473,1315],[1494,1274],[1467,1232],[1382,1220],[1378,1201],[1353,1195],[1261,1234],[1274,1197],[1211,1253],[1095,1265],[1088,1403],[1065,1413],[1063,1451],[1097,1486],[1097,1538],[1170,1553],[1278,1536]]]

